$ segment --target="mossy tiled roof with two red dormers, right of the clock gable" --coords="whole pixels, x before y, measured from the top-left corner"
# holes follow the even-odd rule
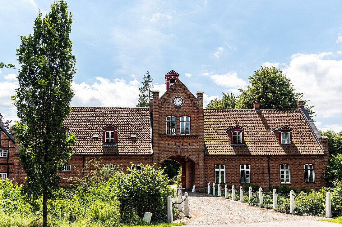
[[[210,155],[324,154],[298,110],[204,109],[204,142]],[[244,128],[245,145],[230,145],[225,129]],[[293,145],[279,145],[271,130],[292,128]]]

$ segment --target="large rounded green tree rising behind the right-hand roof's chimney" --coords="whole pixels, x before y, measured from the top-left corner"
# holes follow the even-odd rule
[[[262,66],[249,76],[247,89],[240,89],[236,109],[253,109],[253,101],[260,101],[261,109],[297,110],[297,100],[303,98],[302,93],[295,92],[290,79],[280,69]],[[314,117],[312,107],[304,102],[308,114]]]

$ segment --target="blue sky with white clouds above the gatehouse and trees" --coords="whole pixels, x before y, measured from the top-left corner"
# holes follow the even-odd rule
[[[0,0],[0,61],[16,64],[52,1]],[[276,66],[315,105],[318,128],[342,130],[340,1],[67,1],[73,13],[73,106],[134,107],[149,70],[165,92],[170,70],[205,101],[238,95],[262,65]],[[0,73],[0,112],[17,120],[15,71]]]

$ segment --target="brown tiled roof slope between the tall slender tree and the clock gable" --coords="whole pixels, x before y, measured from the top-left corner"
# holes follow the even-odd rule
[[[63,125],[78,139],[74,154],[151,154],[149,116],[148,108],[72,107]],[[108,124],[119,129],[117,146],[102,146],[102,128]]]

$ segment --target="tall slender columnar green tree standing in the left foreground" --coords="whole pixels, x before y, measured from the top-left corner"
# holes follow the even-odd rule
[[[38,14],[33,34],[22,36],[17,49],[22,70],[17,75],[19,88],[13,96],[21,119],[16,137],[21,143],[19,157],[27,174],[25,191],[43,199],[43,226],[47,226],[47,200],[58,190],[57,172],[69,160],[70,145],[75,140],[61,129],[74,95],[71,82],[76,70],[69,39],[71,23],[67,4],[60,0],[51,5],[45,17]]]

